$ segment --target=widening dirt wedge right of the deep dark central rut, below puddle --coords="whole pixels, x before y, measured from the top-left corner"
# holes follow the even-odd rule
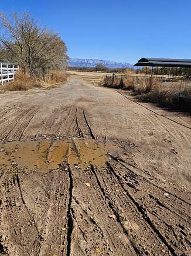
[[[91,188],[84,182],[90,182]],[[113,214],[98,188],[96,177],[90,168],[73,169],[74,231],[71,254],[94,255],[97,251],[105,255],[137,255],[121,225],[108,215]],[[80,193],[79,193],[80,189]],[[90,190],[89,190],[90,189]],[[96,198],[96,201],[95,201]],[[124,246],[122,246],[124,245]]]

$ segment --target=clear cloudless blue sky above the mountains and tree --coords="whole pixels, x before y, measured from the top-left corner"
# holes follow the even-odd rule
[[[59,32],[72,58],[191,59],[190,0],[9,0],[0,9],[31,12]]]

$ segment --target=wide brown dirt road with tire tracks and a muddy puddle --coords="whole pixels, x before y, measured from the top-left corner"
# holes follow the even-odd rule
[[[0,254],[191,255],[191,118],[135,101],[0,95]]]

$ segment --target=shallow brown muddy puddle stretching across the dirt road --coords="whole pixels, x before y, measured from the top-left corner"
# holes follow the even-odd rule
[[[108,160],[108,153],[117,150],[113,142],[97,142],[94,139],[52,138],[16,141],[0,144],[0,167],[39,169],[47,171],[59,168],[62,163],[86,168],[88,165],[103,167]]]

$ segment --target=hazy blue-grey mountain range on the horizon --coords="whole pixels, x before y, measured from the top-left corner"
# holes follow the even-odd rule
[[[103,59],[70,58],[68,61],[70,67],[96,67],[96,65],[100,63],[107,68],[132,68],[132,64],[128,62],[104,61]]]

